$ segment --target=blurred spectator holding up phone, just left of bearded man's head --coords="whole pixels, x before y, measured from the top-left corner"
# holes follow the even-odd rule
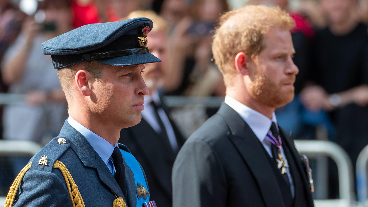
[[[173,52],[169,72],[172,75],[167,76],[170,79],[166,80],[164,90],[167,95],[176,96],[224,96],[222,75],[211,62],[211,42],[212,31],[220,14],[229,10],[229,7],[225,0],[195,0],[187,6],[188,14],[177,23],[171,36]],[[216,111],[217,108],[198,106],[172,110],[186,137]]]

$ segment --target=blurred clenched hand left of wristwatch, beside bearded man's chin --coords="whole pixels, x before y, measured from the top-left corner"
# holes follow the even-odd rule
[[[328,93],[321,86],[307,86],[300,92],[299,97],[303,106],[311,111],[333,109]]]

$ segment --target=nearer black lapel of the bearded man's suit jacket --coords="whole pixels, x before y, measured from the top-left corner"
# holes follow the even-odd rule
[[[284,207],[276,177],[272,173],[262,144],[248,124],[231,107],[223,103],[217,112],[229,126],[228,137],[249,166],[267,207]]]

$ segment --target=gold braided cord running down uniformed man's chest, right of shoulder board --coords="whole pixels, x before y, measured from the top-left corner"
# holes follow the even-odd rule
[[[81,193],[79,193],[78,186],[75,184],[67,167],[65,167],[65,165],[59,160],[56,160],[53,168],[60,169],[61,173],[63,174],[65,182],[67,183],[67,188],[70,194],[70,199],[72,201],[73,207],[85,207]],[[71,188],[70,185],[72,186]]]

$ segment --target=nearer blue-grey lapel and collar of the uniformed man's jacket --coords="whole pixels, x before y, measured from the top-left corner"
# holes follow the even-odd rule
[[[60,131],[60,137],[66,137],[70,140],[70,147],[75,151],[79,159],[86,167],[95,168],[99,179],[105,183],[118,197],[123,197],[120,187],[111,174],[109,168],[102,161],[101,157],[93,149],[91,144],[81,135],[76,129],[74,129],[68,121],[65,121],[63,128]]]

